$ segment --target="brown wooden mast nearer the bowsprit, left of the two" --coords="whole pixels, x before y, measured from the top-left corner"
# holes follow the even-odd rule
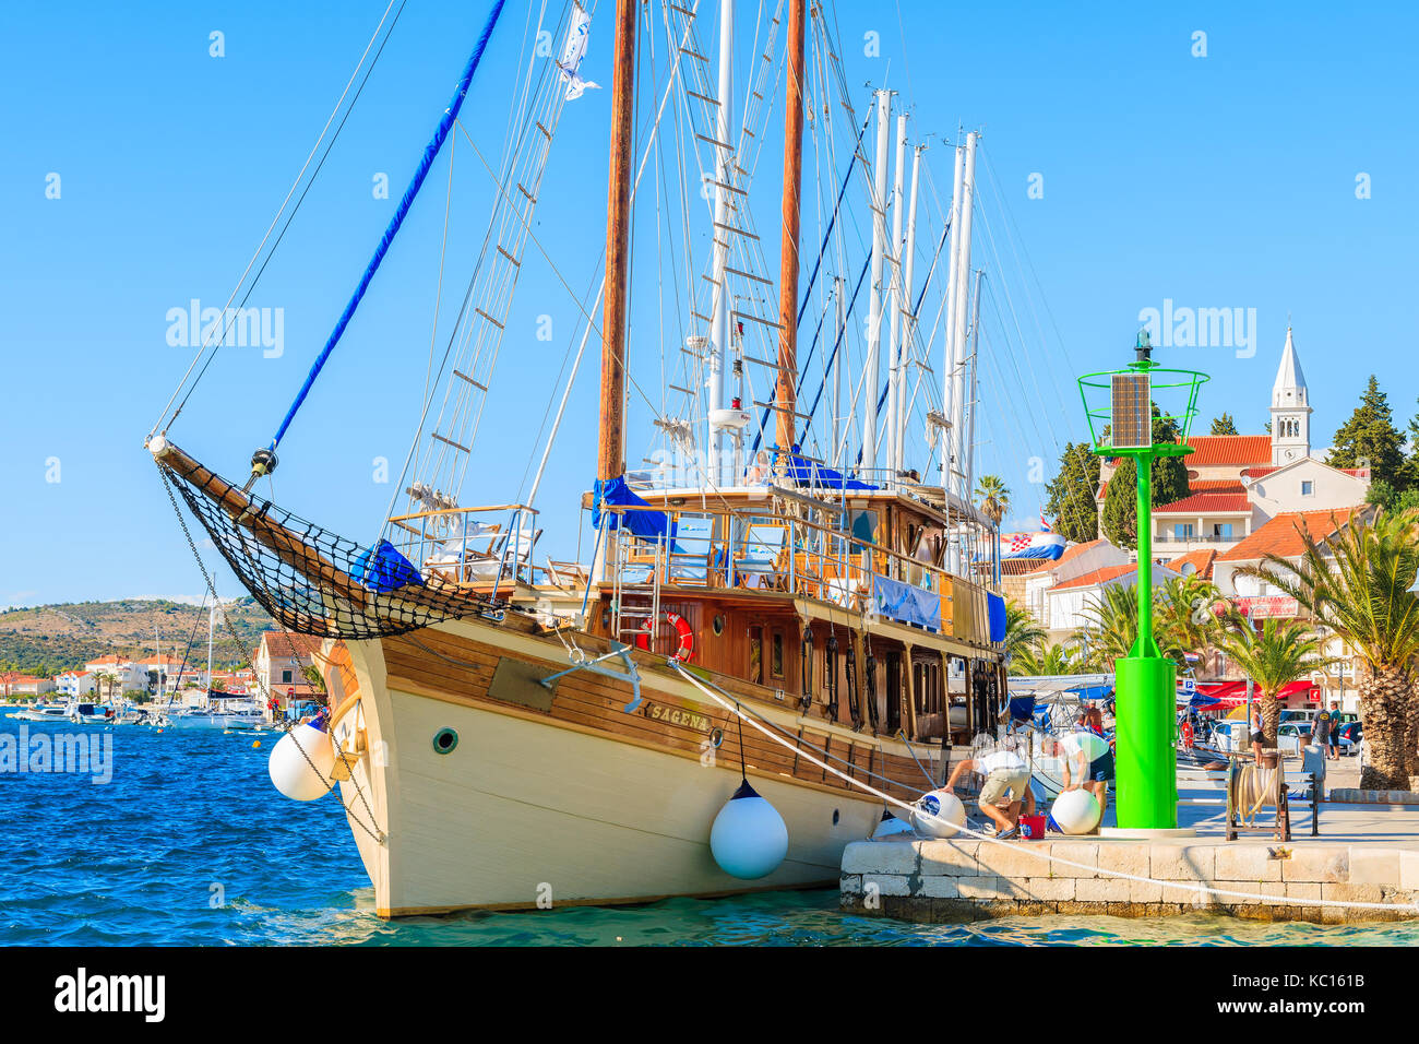
[[[606,187],[606,301],[602,307],[602,402],[596,477],[626,470],[626,270],[630,259],[631,111],[636,94],[636,0],[616,0],[616,78]]]

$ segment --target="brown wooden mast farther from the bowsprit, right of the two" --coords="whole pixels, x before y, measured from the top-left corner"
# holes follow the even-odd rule
[[[805,0],[789,0],[789,68],[783,88],[783,239],[779,247],[779,379],[780,466],[797,430],[797,276],[799,190],[803,183],[803,31]]]

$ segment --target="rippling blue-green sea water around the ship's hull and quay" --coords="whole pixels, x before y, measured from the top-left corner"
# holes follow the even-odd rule
[[[20,724],[0,719],[0,741],[17,737]],[[1419,943],[1419,922],[1266,925],[1195,915],[907,925],[846,916],[833,891],[392,923],[373,913],[373,889],[338,801],[301,805],[271,787],[274,736],[254,750],[250,736],[214,730],[27,724],[31,739],[106,736],[112,780],[0,771],[6,946]]]

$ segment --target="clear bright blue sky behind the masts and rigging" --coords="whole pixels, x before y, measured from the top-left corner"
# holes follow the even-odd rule
[[[712,23],[715,6],[702,7]],[[400,16],[250,301],[281,310],[280,357],[224,349],[172,429],[226,474],[240,479],[274,433],[487,9],[410,0]],[[756,4],[742,9],[748,33]],[[226,301],[383,10],[382,0],[27,3],[0,14],[0,605],[200,592],[142,449],[190,357],[167,344],[166,317],[193,298]],[[610,10],[602,0],[583,68],[606,84]],[[508,4],[463,114],[490,156],[525,18],[525,4]],[[1030,459],[1051,469],[1063,440],[1083,437],[1073,376],[1127,361],[1139,311],[1165,300],[1256,310],[1254,357],[1230,347],[1165,355],[1213,375],[1203,425],[1229,410],[1243,432],[1261,430],[1287,314],[1318,446],[1371,372],[1398,423],[1415,413],[1419,98],[1406,45],[1419,16],[1408,6],[1369,6],[1359,17],[1318,3],[1182,11],[902,0],[839,3],[836,18],[858,112],[864,84],[901,91],[914,134],[935,135],[927,162],[941,192],[951,179],[941,136],[958,125],[985,135],[979,180],[992,187],[982,207],[1005,263],[993,271],[978,223],[976,261],[992,287],[978,472],[1006,477],[1012,514],[1033,518],[1043,499]],[[224,57],[209,53],[213,31]],[[1206,57],[1193,55],[1199,31]],[[866,54],[867,34],[880,54]],[[748,65],[748,43],[741,50]],[[561,280],[583,293],[602,249],[607,112],[607,92],[592,91],[563,116],[546,175],[555,190],[538,212],[561,276],[528,264],[465,503],[517,496],[541,449],[536,428],[579,332]],[[771,139],[753,183],[761,230],[778,227],[778,158]],[[393,199],[373,197],[379,172]],[[57,199],[47,196],[51,175]],[[1029,195],[1034,175],[1040,199]],[[1362,175],[1368,199],[1357,199]],[[441,161],[282,445],[280,503],[353,538],[377,533],[389,501],[373,462],[387,457],[397,473],[417,419],[447,179]],[[861,195],[856,183],[853,192]],[[453,247],[448,278],[460,288],[490,202],[487,176],[458,153],[450,241],[464,250]],[[815,229],[805,223],[805,240]],[[765,249],[776,266],[776,244]],[[552,317],[551,341],[534,334],[541,315]],[[656,335],[644,305],[636,332]],[[654,384],[656,364],[646,365]],[[541,499],[548,550],[568,557],[578,494],[595,473],[595,359],[582,374]],[[633,459],[646,419],[633,410]],[[236,594],[230,577],[223,584]]]

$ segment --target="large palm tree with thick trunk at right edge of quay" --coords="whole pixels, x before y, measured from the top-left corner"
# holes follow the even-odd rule
[[[1372,520],[1331,517],[1334,535],[1317,540],[1304,524],[1298,561],[1267,555],[1237,572],[1254,575],[1294,598],[1364,663],[1359,709],[1365,719],[1361,770],[1365,790],[1408,790],[1419,770],[1419,511],[1381,513]]]

